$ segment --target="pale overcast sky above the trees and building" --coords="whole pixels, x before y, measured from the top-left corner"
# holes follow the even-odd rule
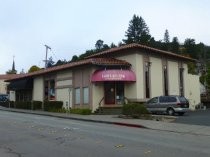
[[[155,40],[194,38],[210,45],[209,0],[0,0],[0,74],[44,66],[45,47],[54,61],[80,55],[98,39],[116,45],[133,15],[142,16]]]

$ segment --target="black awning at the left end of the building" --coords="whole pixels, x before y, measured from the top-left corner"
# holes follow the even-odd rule
[[[11,81],[7,86],[9,90],[24,90],[24,89],[32,89],[33,88],[33,80],[32,79],[21,79]]]

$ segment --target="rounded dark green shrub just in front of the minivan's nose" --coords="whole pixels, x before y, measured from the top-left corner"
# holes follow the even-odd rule
[[[124,104],[122,108],[122,114],[131,116],[133,118],[139,118],[142,115],[148,114],[147,108],[141,103],[129,103]]]

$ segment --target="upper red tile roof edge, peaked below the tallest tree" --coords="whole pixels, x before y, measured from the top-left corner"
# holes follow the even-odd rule
[[[90,56],[88,56],[86,58],[99,57],[99,56],[107,55],[107,54],[110,54],[110,53],[114,54],[114,53],[120,52],[121,50],[126,50],[126,49],[130,49],[130,48],[145,49],[145,50],[150,50],[150,51],[157,52],[157,53],[163,54],[163,55],[169,55],[169,56],[173,56],[173,57],[177,57],[177,58],[186,59],[186,60],[189,60],[189,61],[196,61],[195,59],[190,58],[190,57],[178,55],[178,54],[175,54],[173,52],[159,50],[159,49],[156,49],[156,48],[152,48],[152,47],[149,47],[149,46],[136,44],[136,43],[132,43],[132,44],[123,45],[123,46],[120,46],[120,47],[111,48],[109,50],[102,51],[102,52],[90,55]]]

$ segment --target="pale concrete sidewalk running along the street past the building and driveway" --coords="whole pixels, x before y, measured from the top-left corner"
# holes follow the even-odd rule
[[[0,107],[0,110],[26,113],[26,114],[44,115],[44,116],[80,120],[80,121],[89,121],[96,123],[139,127],[145,129],[176,132],[182,134],[184,133],[184,134],[210,136],[209,126],[177,124],[177,123],[161,122],[154,120],[142,120],[142,119],[123,119],[119,118],[117,115],[77,115],[69,113],[53,113],[45,111],[32,111],[32,110],[22,110],[22,109],[13,109],[13,108],[4,108],[4,107]]]

